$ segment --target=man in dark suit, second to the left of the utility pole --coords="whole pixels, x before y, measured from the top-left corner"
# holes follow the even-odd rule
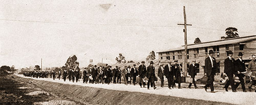
[[[174,80],[174,70],[173,66],[170,63],[171,61],[169,61],[168,64],[164,66],[164,75],[167,78],[169,89],[171,89],[170,87],[173,85]]]

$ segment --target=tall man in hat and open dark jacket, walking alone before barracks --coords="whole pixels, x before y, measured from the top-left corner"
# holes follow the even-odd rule
[[[205,91],[210,87],[210,92],[214,92],[214,76],[219,75],[220,71],[217,71],[217,63],[214,55],[214,51],[209,50],[209,56],[204,60],[204,73],[208,77],[207,83],[204,86]]]

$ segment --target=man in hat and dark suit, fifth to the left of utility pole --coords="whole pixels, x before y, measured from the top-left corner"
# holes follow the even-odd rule
[[[141,61],[141,65],[139,66],[139,77],[140,77],[140,87],[142,88],[142,83],[143,83],[143,87],[145,87],[146,83],[143,82],[143,78],[145,77],[145,73],[146,73],[146,66],[144,65],[145,61]]]

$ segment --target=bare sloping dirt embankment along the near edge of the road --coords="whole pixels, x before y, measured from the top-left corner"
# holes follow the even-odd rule
[[[43,88],[49,93],[67,97],[81,104],[229,104],[197,99],[186,99],[140,92],[116,91],[93,87],[61,84],[48,81],[26,79],[15,76],[24,82]]]

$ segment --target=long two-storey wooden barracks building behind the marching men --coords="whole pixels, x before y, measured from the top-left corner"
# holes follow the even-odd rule
[[[188,59],[187,63],[191,64],[193,60],[196,60],[196,65],[199,67],[199,77],[203,76],[204,73],[204,60],[208,57],[209,50],[214,51],[214,57],[218,64],[220,73],[224,72],[224,60],[227,58],[227,51],[233,52],[233,58],[238,59],[238,53],[242,52],[243,59],[245,60],[246,66],[251,61],[251,55],[256,54],[256,36],[247,36],[231,39],[222,39],[218,41],[203,42],[197,44],[187,45]],[[184,46],[169,49],[159,54],[159,60],[178,60],[178,63],[182,66],[184,64]],[[184,66],[183,66],[184,69]]]

